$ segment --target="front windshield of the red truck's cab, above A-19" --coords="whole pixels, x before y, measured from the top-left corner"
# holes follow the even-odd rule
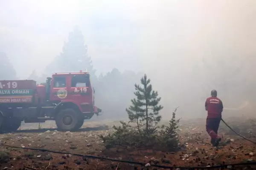
[[[89,87],[89,75],[74,75],[71,79],[71,87]]]

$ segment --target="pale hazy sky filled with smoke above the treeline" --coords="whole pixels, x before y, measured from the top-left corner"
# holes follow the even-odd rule
[[[256,0],[0,0],[0,51],[27,78],[44,70],[78,25],[98,74],[145,70],[160,94],[169,90],[174,108],[191,102],[192,89],[204,100],[218,88],[205,86],[213,71],[228,75],[243,65],[251,77],[255,17]]]

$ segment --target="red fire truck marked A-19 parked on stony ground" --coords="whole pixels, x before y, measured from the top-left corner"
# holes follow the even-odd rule
[[[55,120],[58,130],[79,129],[102,110],[94,105],[89,72],[56,72],[45,84],[33,80],[0,81],[0,131],[25,123]]]

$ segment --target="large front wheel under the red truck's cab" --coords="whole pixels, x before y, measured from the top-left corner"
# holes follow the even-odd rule
[[[56,125],[59,131],[73,131],[79,128],[81,114],[74,109],[63,109],[56,116]]]

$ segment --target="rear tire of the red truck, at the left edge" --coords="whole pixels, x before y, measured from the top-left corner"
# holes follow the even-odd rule
[[[1,125],[1,132],[3,133],[11,133],[15,132],[19,129],[21,124],[21,120],[18,118],[9,118],[4,117],[3,118],[3,124]]]

